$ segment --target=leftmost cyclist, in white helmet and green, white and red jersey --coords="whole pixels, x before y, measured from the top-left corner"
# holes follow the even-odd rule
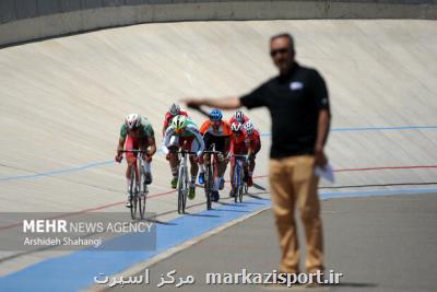
[[[118,140],[116,161],[118,163],[122,160],[122,150],[144,150],[147,153],[143,153],[144,159],[144,183],[146,185],[152,184],[151,162],[152,156],[156,152],[155,135],[152,125],[145,117],[141,117],[138,114],[129,114],[120,129],[120,138]],[[130,208],[129,191],[130,191],[130,175],[131,166],[135,163],[135,155],[133,153],[126,153],[126,160],[128,162],[128,168],[126,170],[126,179],[128,185],[128,200],[126,207]],[[137,170],[138,172],[138,170]],[[137,173],[137,177],[139,177]],[[139,183],[139,182],[138,182]]]

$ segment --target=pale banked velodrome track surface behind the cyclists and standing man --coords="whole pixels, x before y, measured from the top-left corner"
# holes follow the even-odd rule
[[[275,73],[267,44],[282,31],[294,34],[297,59],[316,67],[329,85],[333,130],[328,154],[336,183],[323,183],[329,187],[323,196],[435,192],[435,22],[168,23],[0,50],[0,211],[127,212],[125,165],[113,162],[126,114],[146,116],[161,137],[170,103],[248,92]],[[268,189],[270,119],[263,109],[250,117],[264,133],[256,176]],[[161,214],[160,221],[178,220],[169,170],[160,153],[153,173],[149,211]],[[199,206],[190,212],[204,209],[202,195],[198,190],[190,203]],[[0,284],[8,275],[64,254],[2,252]]]

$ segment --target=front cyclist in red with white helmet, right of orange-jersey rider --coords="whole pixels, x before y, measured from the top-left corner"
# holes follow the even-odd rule
[[[231,161],[231,170],[229,170],[229,178],[231,178],[231,192],[229,196],[234,197],[236,194],[236,185],[234,185],[234,167],[235,167],[235,157],[233,155],[247,155],[247,137],[246,132],[243,129],[243,125],[238,121],[234,121],[231,125],[231,130],[232,130],[232,137],[231,137],[231,150],[229,150],[229,161]],[[247,157],[245,159],[245,174],[247,175]],[[245,175],[245,176],[246,176]]]

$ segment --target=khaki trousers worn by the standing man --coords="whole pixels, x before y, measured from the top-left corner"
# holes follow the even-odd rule
[[[323,270],[322,224],[315,157],[298,155],[270,160],[270,188],[282,250],[281,272],[298,272],[299,246],[294,210],[297,202],[306,233],[306,268]]]

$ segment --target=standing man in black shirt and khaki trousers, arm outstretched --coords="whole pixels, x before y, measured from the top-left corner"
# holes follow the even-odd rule
[[[281,272],[297,273],[299,247],[295,206],[306,232],[307,272],[323,270],[322,224],[315,166],[327,163],[324,143],[330,127],[328,91],[321,75],[295,61],[293,37],[270,39],[270,55],[279,75],[251,93],[217,100],[187,100],[188,106],[223,109],[265,106],[272,118],[270,188],[282,249]]]

